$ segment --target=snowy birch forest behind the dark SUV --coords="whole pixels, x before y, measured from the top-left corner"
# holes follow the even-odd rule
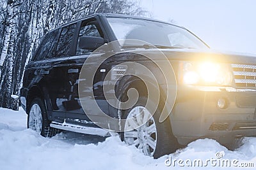
[[[44,35],[93,13],[144,15],[128,0],[0,0],[0,106],[17,110],[24,67]]]

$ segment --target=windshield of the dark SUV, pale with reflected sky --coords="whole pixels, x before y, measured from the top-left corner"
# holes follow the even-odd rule
[[[137,18],[109,17],[108,22],[118,40],[138,39],[165,48],[208,48],[191,32],[175,25]]]

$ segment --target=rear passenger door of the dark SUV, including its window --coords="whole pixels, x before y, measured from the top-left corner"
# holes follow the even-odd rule
[[[64,122],[67,108],[65,101],[68,100],[68,58],[74,55],[74,34],[77,24],[70,24],[60,29],[60,36],[54,45],[54,57],[49,71],[49,99],[51,100],[52,118],[57,122]],[[55,50],[56,49],[56,50]]]

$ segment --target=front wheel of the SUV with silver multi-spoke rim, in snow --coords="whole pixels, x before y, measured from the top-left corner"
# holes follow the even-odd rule
[[[180,148],[177,138],[173,136],[170,119],[166,118],[164,122],[161,122],[161,123],[159,122],[159,117],[161,115],[161,108],[162,108],[161,106],[157,108],[156,113],[154,113],[153,117],[151,117],[145,124],[141,125],[137,129],[132,128],[134,129],[132,131],[125,131],[126,125],[129,127],[129,124],[130,124],[127,118],[131,118],[131,114],[134,114],[136,112],[136,111],[135,112],[132,112],[132,111],[139,110],[137,111],[137,113],[140,113],[141,115],[140,117],[145,117],[145,115],[147,115],[147,112],[149,113],[147,108],[145,108],[146,103],[147,103],[147,97],[139,97],[137,103],[134,104],[132,108],[130,108],[129,110],[123,111],[122,118],[125,118],[126,121],[125,121],[124,132],[122,132],[120,136],[121,136],[121,139],[125,141],[125,143],[127,143],[128,145],[135,145],[145,155],[152,156],[155,159],[157,159],[163,155],[173,153],[177,150],[177,148]],[[151,114],[150,116],[152,116],[152,113],[150,114]],[[136,118],[137,121],[139,119],[140,118]],[[130,121],[132,122],[132,120]],[[143,121],[139,121],[139,122],[143,122]],[[154,126],[156,128],[154,128]],[[134,136],[136,136],[136,132],[138,133],[137,134],[138,137],[134,138]],[[156,146],[154,148],[155,144]],[[141,148],[141,145],[143,148]]]

